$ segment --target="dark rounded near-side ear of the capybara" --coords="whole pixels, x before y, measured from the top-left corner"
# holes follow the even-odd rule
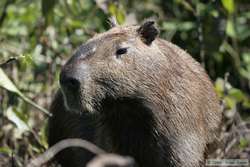
[[[137,32],[141,36],[142,41],[147,45],[150,45],[159,33],[154,21],[145,22],[137,29]]]

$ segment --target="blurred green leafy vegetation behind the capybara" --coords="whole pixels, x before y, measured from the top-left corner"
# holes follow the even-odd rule
[[[0,166],[44,152],[47,109],[74,49],[119,24],[155,19],[160,37],[207,70],[224,111],[211,157],[250,159],[249,0],[1,0]]]

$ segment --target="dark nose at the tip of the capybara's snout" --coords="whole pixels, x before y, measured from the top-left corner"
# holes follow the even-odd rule
[[[78,90],[80,87],[80,81],[74,76],[74,74],[64,71],[60,74],[60,85],[69,91]]]

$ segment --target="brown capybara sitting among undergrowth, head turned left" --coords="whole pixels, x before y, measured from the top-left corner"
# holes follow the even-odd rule
[[[50,146],[78,137],[139,167],[204,166],[219,101],[200,64],[157,35],[153,21],[116,26],[76,50],[51,105]],[[57,160],[83,167],[92,157],[72,148]]]

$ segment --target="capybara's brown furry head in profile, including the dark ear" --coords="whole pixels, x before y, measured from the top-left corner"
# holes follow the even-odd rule
[[[106,98],[153,94],[159,81],[154,77],[167,63],[154,43],[157,35],[154,22],[147,21],[141,26],[116,26],[81,45],[60,75],[66,107],[94,112]]]

